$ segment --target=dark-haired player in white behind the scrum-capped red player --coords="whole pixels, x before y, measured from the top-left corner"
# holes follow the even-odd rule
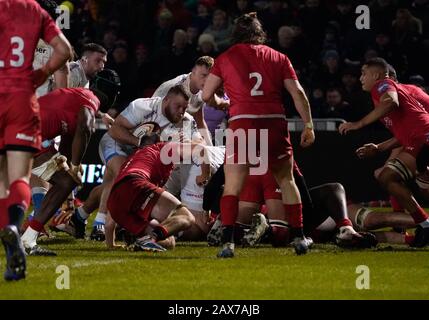
[[[89,80],[104,69],[106,62],[106,49],[96,43],[85,44],[82,48],[82,57],[70,63],[70,87],[89,88]]]

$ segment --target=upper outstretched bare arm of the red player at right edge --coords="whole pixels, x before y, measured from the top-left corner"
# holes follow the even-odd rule
[[[376,108],[374,108],[374,110],[357,122],[342,123],[338,130],[340,131],[340,134],[346,134],[351,130],[361,129],[384,117],[398,106],[398,93],[396,91],[388,91],[381,96],[380,103]]]

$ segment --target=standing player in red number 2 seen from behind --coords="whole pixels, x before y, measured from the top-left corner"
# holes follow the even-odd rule
[[[249,154],[244,154],[246,161],[237,161],[243,156],[239,150],[243,145],[234,143],[234,135],[242,133],[243,129],[248,148],[256,147],[257,152],[268,148],[268,152],[260,152],[261,157],[268,156],[260,163],[268,165],[281,187],[284,207],[291,217],[295,251],[303,254],[308,248],[302,232],[301,198],[292,175],[292,146],[282,105],[282,90],[289,91],[305,122],[301,135],[303,147],[314,142],[308,99],[287,56],[263,45],[265,32],[255,13],[237,19],[233,37],[237,44],[216,59],[203,89],[203,100],[207,102],[223,84],[231,103],[226,182],[221,202],[224,246],[218,256],[234,256],[233,226],[238,214],[238,196],[249,173],[250,162]],[[256,131],[256,137],[268,131],[267,141],[258,141],[258,138],[251,141],[252,131]]]

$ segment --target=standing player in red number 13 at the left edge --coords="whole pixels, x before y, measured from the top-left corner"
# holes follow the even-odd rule
[[[67,39],[34,0],[0,1],[0,238],[6,250],[6,280],[25,277],[19,224],[30,202],[28,184],[33,152],[40,147],[35,88],[71,56]],[[54,49],[33,71],[39,38]]]

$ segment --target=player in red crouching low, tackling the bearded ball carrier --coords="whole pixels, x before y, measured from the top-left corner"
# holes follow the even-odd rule
[[[159,241],[188,229],[195,223],[195,217],[176,197],[161,188],[173,169],[173,162],[166,162],[163,152],[172,158],[185,159],[192,156],[195,147],[202,150],[204,147],[196,143],[159,142],[159,125],[147,122],[144,126],[146,133],[141,138],[141,149],[122,165],[107,207],[113,220],[138,238],[135,250],[165,251]],[[154,225],[152,220],[158,223]],[[108,242],[113,243],[109,240],[113,232],[114,229],[106,226]]]

